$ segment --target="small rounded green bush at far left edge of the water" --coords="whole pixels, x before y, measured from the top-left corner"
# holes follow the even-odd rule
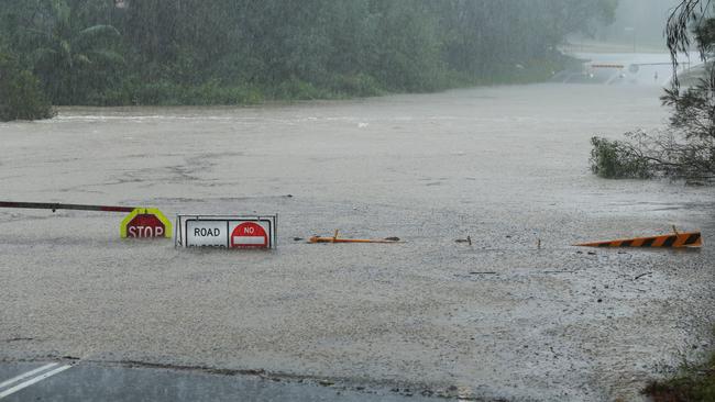
[[[0,44],[0,121],[48,119],[52,105],[40,80]]]

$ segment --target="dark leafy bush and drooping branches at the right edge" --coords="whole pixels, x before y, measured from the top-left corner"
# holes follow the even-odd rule
[[[678,67],[678,53],[688,52],[691,30],[704,62],[704,76],[681,88],[678,77],[661,97],[672,114],[668,127],[626,133],[624,139],[593,137],[591,169],[609,179],[669,177],[702,183],[715,179],[715,19],[710,2],[682,0],[669,20],[668,47]]]

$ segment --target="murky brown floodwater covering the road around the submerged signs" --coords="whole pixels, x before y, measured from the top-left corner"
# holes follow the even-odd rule
[[[666,123],[660,93],[551,83],[0,124],[1,199],[280,216],[278,250],[240,254],[123,242],[118,215],[0,211],[0,358],[638,398],[712,346],[715,306],[713,189],[588,170],[591,136]],[[706,246],[571,246],[672,224]],[[294,241],[337,228],[408,243]]]

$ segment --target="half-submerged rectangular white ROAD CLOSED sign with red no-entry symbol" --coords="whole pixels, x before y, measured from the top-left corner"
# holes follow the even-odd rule
[[[176,246],[187,248],[276,248],[277,215],[178,215]]]

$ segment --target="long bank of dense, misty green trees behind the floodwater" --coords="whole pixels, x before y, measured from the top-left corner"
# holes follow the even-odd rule
[[[246,103],[543,79],[616,0],[0,0],[55,104]]]

